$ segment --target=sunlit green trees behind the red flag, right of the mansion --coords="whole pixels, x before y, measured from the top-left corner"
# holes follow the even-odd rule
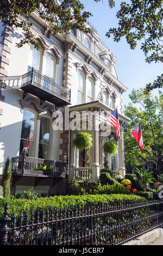
[[[151,93],[146,95],[143,89],[133,90],[129,95],[132,103],[125,106],[124,113],[131,119],[128,131],[124,133],[124,147],[126,166],[130,169],[143,166],[148,161],[156,163],[156,171],[161,173],[163,160],[163,135],[161,125],[163,124],[163,95],[153,97]],[[135,105],[133,105],[133,103]],[[144,149],[137,144],[131,135],[137,125],[141,123]]]

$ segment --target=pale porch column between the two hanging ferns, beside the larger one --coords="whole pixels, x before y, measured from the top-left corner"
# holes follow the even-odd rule
[[[97,117],[96,117],[97,118]],[[92,182],[99,178],[99,121],[93,121]]]

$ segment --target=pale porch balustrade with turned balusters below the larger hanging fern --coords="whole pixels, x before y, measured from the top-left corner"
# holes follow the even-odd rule
[[[74,167],[73,173],[74,173],[74,178],[79,179],[79,180],[92,179],[92,168],[91,167]]]

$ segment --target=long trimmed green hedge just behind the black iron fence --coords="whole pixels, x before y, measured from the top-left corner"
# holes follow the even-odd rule
[[[8,212],[9,216],[21,215],[21,210],[23,210],[23,216],[25,216],[26,211],[28,210],[29,217],[32,214],[32,210],[36,212],[36,209],[42,209],[49,211],[52,209],[71,209],[74,206],[89,206],[92,204],[119,204],[119,202],[127,202],[132,204],[133,202],[138,202],[145,200],[143,197],[134,196],[131,194],[89,194],[89,195],[79,195],[79,196],[54,196],[54,197],[38,197],[36,199],[28,200],[26,198],[20,199],[1,199],[0,200],[0,217],[3,216],[4,206],[8,202]]]

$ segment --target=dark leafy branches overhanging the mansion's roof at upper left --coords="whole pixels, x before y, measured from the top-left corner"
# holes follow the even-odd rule
[[[16,28],[22,28],[23,38],[17,46],[22,47],[30,43],[39,48],[40,43],[32,32],[32,13],[44,21],[44,32],[54,36],[70,32],[77,28],[84,33],[91,33],[92,29],[85,24],[91,13],[84,10],[84,5],[79,0],[64,0],[59,4],[54,0],[2,0],[0,2],[0,17],[3,23]],[[59,2],[59,1],[58,1]],[[18,19],[18,16],[23,19]]]

